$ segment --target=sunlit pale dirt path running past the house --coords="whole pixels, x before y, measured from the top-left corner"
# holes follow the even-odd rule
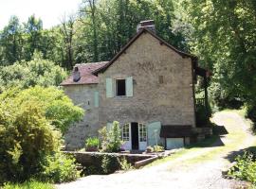
[[[60,189],[161,189],[237,188],[239,181],[225,180],[221,170],[229,164],[228,155],[252,146],[255,138],[248,132],[245,120],[236,112],[218,112],[212,119],[224,125],[229,134],[223,136],[220,145],[203,148],[184,149],[184,153],[165,163],[144,167],[139,170],[108,176],[88,176],[80,180],[57,185]],[[171,157],[172,158],[172,157]]]

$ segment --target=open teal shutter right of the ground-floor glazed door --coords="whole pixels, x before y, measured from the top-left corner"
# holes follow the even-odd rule
[[[148,129],[148,146],[155,146],[157,140],[157,145],[160,144],[160,129],[161,122],[153,122],[147,125]]]

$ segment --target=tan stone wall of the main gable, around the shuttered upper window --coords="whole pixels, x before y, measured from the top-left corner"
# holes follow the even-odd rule
[[[195,127],[192,60],[182,58],[149,33],[142,34],[99,77],[101,125],[117,120],[120,125],[160,121],[162,125]],[[106,77],[133,77],[133,96],[107,98]]]

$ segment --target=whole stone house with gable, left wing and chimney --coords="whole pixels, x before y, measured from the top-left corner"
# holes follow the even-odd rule
[[[206,77],[197,58],[155,34],[154,21],[141,22],[136,36],[112,60],[82,63],[61,84],[85,110],[65,136],[68,149],[84,146],[119,121],[125,149],[167,149],[190,144],[195,124],[194,83]]]

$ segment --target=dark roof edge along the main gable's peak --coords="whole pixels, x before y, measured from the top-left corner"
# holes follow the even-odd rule
[[[180,51],[178,49],[176,49],[173,45],[171,45],[170,43],[167,43],[166,41],[164,41],[163,39],[159,38],[153,31],[143,27],[141,28],[141,30],[139,32],[137,32],[137,34],[135,35],[135,37],[132,38],[132,40],[130,40],[130,42],[128,42],[120,51],[119,53],[112,59],[110,60],[108,63],[106,63],[104,66],[102,66],[101,68],[95,70],[93,72],[93,74],[97,75],[99,73],[102,73],[104,72],[112,63],[115,62],[115,60],[117,60],[119,58],[119,56],[125,52],[125,50],[127,48],[129,48],[129,46],[134,43],[137,38],[142,34],[142,33],[145,33],[145,32],[148,32],[150,33],[153,37],[155,37],[155,39],[157,39],[161,44],[165,44],[166,46],[168,46],[169,48],[173,49],[177,54],[179,54],[180,56],[182,57],[188,57],[188,58],[192,58],[192,62],[193,62],[193,66],[196,67],[197,66],[197,57],[195,57],[194,55],[192,54],[189,54],[189,53],[185,53],[183,51]]]

